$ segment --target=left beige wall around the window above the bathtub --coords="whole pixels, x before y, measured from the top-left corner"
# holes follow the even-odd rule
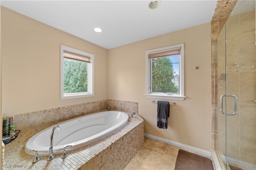
[[[107,50],[1,6],[3,117],[107,99]],[[60,100],[60,44],[95,57],[95,96]]]

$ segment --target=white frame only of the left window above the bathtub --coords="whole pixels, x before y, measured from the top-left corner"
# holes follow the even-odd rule
[[[90,57],[90,63],[88,63],[88,92],[64,94],[64,50]],[[65,45],[60,45],[60,99],[84,98],[91,96],[94,96],[94,55]]]

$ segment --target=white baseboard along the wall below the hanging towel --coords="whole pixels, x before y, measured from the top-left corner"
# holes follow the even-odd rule
[[[168,139],[163,139],[163,138],[160,138],[160,137],[149,135],[147,133],[144,133],[144,137],[148,137],[148,138],[154,139],[156,141],[168,143],[170,145],[174,145],[176,147],[180,147],[180,148],[183,148],[183,149],[191,150],[192,152],[196,152],[196,153],[208,156],[208,157],[211,157],[211,155],[212,155],[212,153],[210,151],[199,149],[199,148],[196,148],[196,147],[191,147],[191,146],[188,146],[188,145],[184,145],[182,143],[178,143],[178,142],[170,141]]]

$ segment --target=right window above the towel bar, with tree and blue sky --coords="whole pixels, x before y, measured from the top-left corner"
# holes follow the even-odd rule
[[[146,51],[146,97],[184,100],[184,44]]]

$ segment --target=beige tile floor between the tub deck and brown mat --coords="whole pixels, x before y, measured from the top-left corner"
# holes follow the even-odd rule
[[[174,170],[179,147],[150,138],[124,170]]]

